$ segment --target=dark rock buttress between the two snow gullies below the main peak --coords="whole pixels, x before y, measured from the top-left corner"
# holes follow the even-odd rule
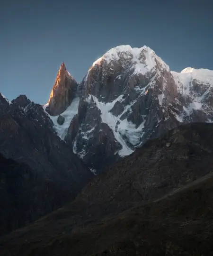
[[[112,129],[102,122],[100,110],[93,98],[89,103],[81,102],[82,107],[72,119],[65,141],[73,146],[74,152],[79,152],[89,168],[101,171],[103,163],[107,167],[118,159],[116,152],[122,146],[116,141]],[[112,152],[115,153],[114,157]]]

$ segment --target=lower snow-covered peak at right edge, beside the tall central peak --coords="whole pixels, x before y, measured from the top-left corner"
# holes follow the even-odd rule
[[[183,122],[212,122],[213,120],[213,71],[185,68],[181,73],[171,72],[177,84],[183,105]]]

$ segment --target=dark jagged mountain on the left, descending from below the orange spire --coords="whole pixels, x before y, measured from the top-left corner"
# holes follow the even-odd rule
[[[30,192],[30,188],[25,187],[28,182],[29,185],[32,184],[34,191],[30,192],[29,197],[26,195],[26,201],[35,200],[34,207],[36,207],[36,209],[30,208],[32,204],[29,203],[29,208],[26,210],[24,203],[22,209],[18,209],[14,205],[13,212],[17,211],[18,215],[17,217],[5,217],[14,219],[11,220],[11,223],[9,221],[10,224],[7,224],[9,226],[2,227],[2,232],[9,232],[34,221],[61,207],[67,201],[71,201],[93,177],[86,165],[57,136],[53,129],[53,122],[46,115],[43,107],[27,99],[25,95],[20,95],[17,99],[9,102],[0,94],[0,154],[11,159],[8,160],[9,163],[14,160],[25,164],[23,166],[28,166],[23,170],[22,165],[16,168],[16,164],[14,164],[14,168],[10,168],[10,165],[8,167],[5,165],[3,168],[4,165],[0,163],[0,175],[6,175],[5,184],[8,184],[9,181],[14,183],[14,186],[16,182],[20,183],[8,195],[7,190],[3,189],[4,194],[7,195],[6,198],[15,195],[19,198],[19,194]],[[7,171],[8,173],[5,173]],[[18,173],[13,175],[12,172]],[[3,178],[2,182],[4,180]],[[39,189],[40,192],[38,192]],[[42,192],[44,193],[42,194]],[[12,207],[9,203],[7,205],[9,208],[1,205],[3,207],[1,211],[5,212],[5,216],[10,214]],[[26,212],[24,212],[25,210]]]

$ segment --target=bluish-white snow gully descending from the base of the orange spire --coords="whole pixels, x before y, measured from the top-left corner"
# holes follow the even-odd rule
[[[59,116],[51,116],[49,115],[45,109],[48,106],[48,104],[44,105],[44,111],[46,112],[46,114],[48,114],[48,116],[50,117],[50,119],[52,119],[53,124],[54,124],[54,129],[57,133],[57,135],[64,140],[67,130],[70,126],[71,120],[73,119],[73,117],[78,113],[78,107],[79,107],[79,98],[75,98],[71,105],[61,114],[62,117],[65,118],[64,123],[62,125],[59,125],[57,123],[57,119]]]

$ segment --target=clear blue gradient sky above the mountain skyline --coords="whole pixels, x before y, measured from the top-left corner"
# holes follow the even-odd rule
[[[80,82],[118,45],[150,46],[171,70],[213,70],[213,0],[3,0],[0,92],[44,104],[62,62]]]

